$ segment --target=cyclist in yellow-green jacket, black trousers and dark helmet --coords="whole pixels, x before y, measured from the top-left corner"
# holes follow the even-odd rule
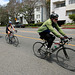
[[[57,21],[58,21],[58,14],[53,13],[50,15],[50,18],[45,21],[42,26],[38,29],[38,33],[42,39],[47,40],[48,46],[47,48],[50,49],[52,46],[52,43],[55,39],[55,36],[58,38],[63,39],[62,36],[65,38],[68,38],[66,34],[61,30],[61,28],[58,26]],[[62,35],[60,35],[56,30]],[[51,32],[54,34],[51,34]]]

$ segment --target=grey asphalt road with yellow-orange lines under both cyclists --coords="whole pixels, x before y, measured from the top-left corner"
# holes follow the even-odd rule
[[[20,42],[18,47],[6,43],[5,27],[0,27],[0,75],[75,75],[75,72],[59,66],[56,59],[48,61],[34,55],[32,46],[34,42],[41,41],[37,28],[16,29],[18,33],[15,35]],[[75,29],[63,31],[75,38]],[[75,49],[75,41],[69,47]]]

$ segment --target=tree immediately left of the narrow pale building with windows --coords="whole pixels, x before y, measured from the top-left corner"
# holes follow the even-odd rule
[[[24,15],[28,23],[34,20],[34,6],[38,0],[25,0],[21,3],[22,7],[19,10]]]

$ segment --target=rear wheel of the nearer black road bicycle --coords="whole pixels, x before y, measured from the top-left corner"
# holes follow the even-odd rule
[[[45,43],[42,42],[35,42],[33,44],[33,52],[34,55],[39,57],[39,58],[46,58],[46,49],[45,49]]]

